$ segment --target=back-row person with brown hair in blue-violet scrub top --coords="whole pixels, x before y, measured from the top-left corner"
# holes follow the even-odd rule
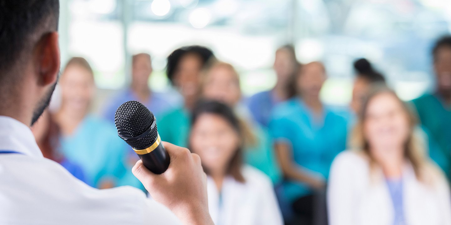
[[[277,76],[276,85],[272,90],[259,92],[248,100],[248,106],[253,117],[263,127],[268,126],[274,106],[295,95],[293,79],[299,66],[293,46],[285,45],[277,49],[273,65]]]

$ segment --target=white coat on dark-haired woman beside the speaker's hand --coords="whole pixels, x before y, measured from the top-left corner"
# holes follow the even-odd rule
[[[207,177],[208,208],[215,225],[282,225],[271,180],[249,165],[243,166],[242,174],[245,183],[227,176],[221,194]]]

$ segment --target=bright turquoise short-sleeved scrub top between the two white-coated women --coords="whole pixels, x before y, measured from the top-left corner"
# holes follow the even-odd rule
[[[269,123],[276,142],[292,147],[293,160],[303,169],[327,179],[334,157],[346,147],[346,120],[323,108],[321,122],[314,121],[313,112],[299,98],[292,98],[277,106]],[[304,183],[285,180],[283,192],[288,201],[312,193]]]

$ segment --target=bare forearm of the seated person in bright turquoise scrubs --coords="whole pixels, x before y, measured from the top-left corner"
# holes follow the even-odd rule
[[[313,172],[302,169],[296,164],[293,160],[293,153],[289,144],[286,142],[276,142],[274,148],[276,149],[276,156],[282,173],[286,178],[304,182],[312,188],[324,188],[326,181],[320,174],[316,175]]]

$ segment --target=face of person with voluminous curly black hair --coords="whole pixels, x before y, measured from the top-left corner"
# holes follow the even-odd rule
[[[198,55],[188,54],[180,59],[174,76],[174,84],[185,98],[198,94],[201,69],[202,60]]]

